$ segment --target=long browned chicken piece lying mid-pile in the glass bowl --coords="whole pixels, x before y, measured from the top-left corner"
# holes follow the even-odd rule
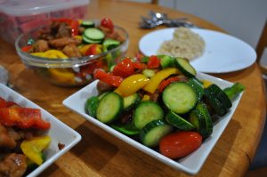
[[[48,44],[52,45],[55,48],[63,48],[68,44],[81,44],[82,39],[77,39],[75,37],[61,37],[59,39],[53,39],[48,42]]]

